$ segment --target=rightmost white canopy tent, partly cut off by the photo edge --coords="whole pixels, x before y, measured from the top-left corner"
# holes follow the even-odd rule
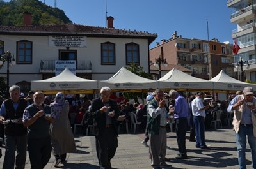
[[[253,89],[256,89],[256,84],[249,84],[246,82],[241,82],[239,80],[236,80],[235,78],[232,78],[228,76],[224,71],[220,71],[216,77],[209,80],[210,82],[213,82],[214,89],[216,92],[227,92],[227,91],[243,91],[244,87],[250,86],[253,87]]]

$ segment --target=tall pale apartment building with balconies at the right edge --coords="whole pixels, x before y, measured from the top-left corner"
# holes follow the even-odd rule
[[[239,76],[244,77],[244,79],[240,77],[240,80],[256,82],[256,1],[227,0],[227,6],[234,9],[234,13],[231,13],[230,22],[237,24],[237,28],[232,30],[232,38],[237,40],[237,45],[240,47],[239,52],[234,55],[234,63],[236,63],[234,71],[239,73]]]

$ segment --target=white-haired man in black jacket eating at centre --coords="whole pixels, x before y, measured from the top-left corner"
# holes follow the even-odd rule
[[[111,169],[111,159],[118,146],[119,110],[114,100],[109,99],[111,89],[102,87],[100,97],[93,99],[90,114],[95,119],[96,151],[101,168]]]

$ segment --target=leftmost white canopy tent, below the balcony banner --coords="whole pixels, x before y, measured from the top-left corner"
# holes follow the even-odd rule
[[[97,80],[77,77],[67,67],[56,77],[31,81],[31,91],[42,91],[44,94],[84,94],[93,93],[93,89],[98,89]]]

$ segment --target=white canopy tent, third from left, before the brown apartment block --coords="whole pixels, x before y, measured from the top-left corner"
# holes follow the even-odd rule
[[[158,80],[161,89],[177,89],[177,91],[212,91],[213,83],[202,78],[192,77],[176,68],[170,70]]]

